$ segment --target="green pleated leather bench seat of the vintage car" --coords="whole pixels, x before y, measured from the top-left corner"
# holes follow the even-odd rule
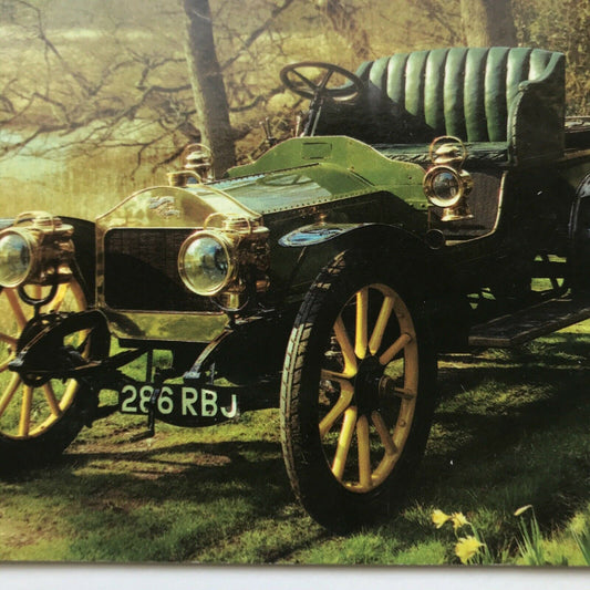
[[[390,157],[423,161],[441,135],[474,157],[522,164],[563,152],[565,56],[527,48],[453,48],[363,63],[355,105],[328,108],[320,133],[352,135]],[[340,126],[340,130],[339,130]]]

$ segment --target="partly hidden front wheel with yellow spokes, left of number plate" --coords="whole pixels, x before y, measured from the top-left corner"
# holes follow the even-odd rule
[[[86,296],[77,280],[72,279],[69,286],[62,288],[65,294],[60,311],[86,309]],[[17,303],[8,301],[9,291]],[[58,297],[60,294],[44,306],[42,311],[51,309]],[[23,432],[19,432],[23,420],[21,414],[23,401],[28,394],[22,381],[19,381],[14,393],[11,396],[8,395],[11,383],[19,377],[6,365],[9,358],[14,354],[14,343],[22,331],[23,318],[29,317],[32,311],[18,299],[15,290],[0,290],[0,302],[4,306],[3,325],[0,330],[0,345],[3,349],[0,363],[0,470],[7,472],[39,466],[59,456],[77,436],[84,421],[87,420],[90,396],[84,395],[81,386],[73,380],[65,384],[53,380],[45,386],[31,387],[29,417],[25,420],[28,424]],[[7,318],[7,309],[9,312],[12,311],[11,318],[10,313]],[[20,324],[15,319],[19,310],[23,314]],[[13,321],[10,322],[10,320]],[[11,342],[8,342],[10,339],[12,339]],[[90,338],[86,346],[87,354],[95,355],[99,350],[97,344],[95,339]],[[54,396],[53,404],[58,404],[53,405],[54,412],[50,403],[51,393]]]

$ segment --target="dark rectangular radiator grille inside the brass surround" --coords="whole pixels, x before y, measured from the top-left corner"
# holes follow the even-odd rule
[[[111,309],[219,311],[189,291],[177,258],[193,229],[112,229],[104,238],[104,297]]]

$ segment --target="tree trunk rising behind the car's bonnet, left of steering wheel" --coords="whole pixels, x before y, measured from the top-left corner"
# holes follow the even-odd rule
[[[236,148],[215,50],[209,0],[183,0],[183,4],[187,17],[186,59],[198,125],[203,142],[211,149],[215,177],[219,178],[236,164]]]

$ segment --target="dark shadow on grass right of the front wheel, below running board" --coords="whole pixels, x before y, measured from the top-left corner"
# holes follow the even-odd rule
[[[588,335],[562,333],[487,352],[470,364],[463,364],[468,356],[444,363],[417,500],[507,515],[534,504],[545,530],[583,509],[590,500],[589,355]]]

